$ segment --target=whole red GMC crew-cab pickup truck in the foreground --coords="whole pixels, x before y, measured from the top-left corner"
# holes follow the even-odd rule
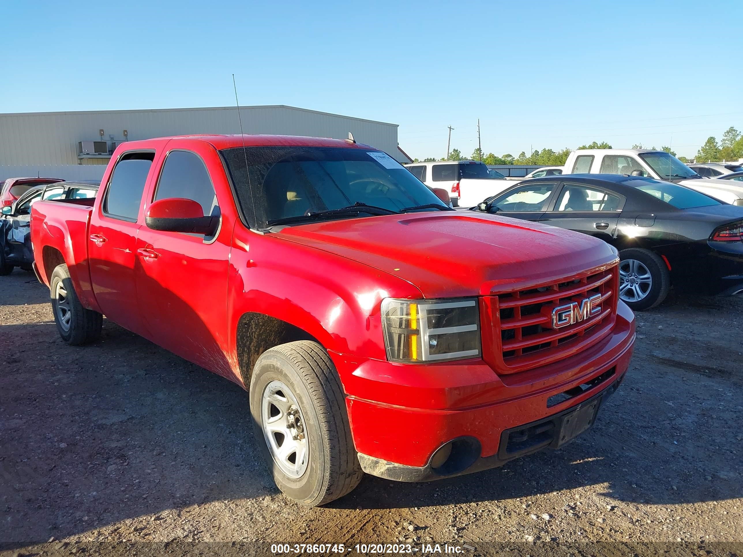
[[[632,356],[614,248],[450,209],[353,140],[131,141],[86,203],[33,205],[62,339],[105,315],[241,385],[303,504],[562,446]]]

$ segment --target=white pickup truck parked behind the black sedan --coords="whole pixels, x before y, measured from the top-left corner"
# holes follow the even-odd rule
[[[652,149],[580,149],[565,161],[563,174],[626,174],[680,183],[713,198],[743,206],[743,185],[703,178],[672,154]]]

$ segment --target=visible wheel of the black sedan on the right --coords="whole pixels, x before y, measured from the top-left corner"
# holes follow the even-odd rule
[[[648,310],[666,299],[671,278],[663,259],[636,247],[620,251],[619,258],[619,297],[632,310]]]

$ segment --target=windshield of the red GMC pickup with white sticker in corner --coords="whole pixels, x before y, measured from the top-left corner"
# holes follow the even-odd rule
[[[354,206],[376,208],[376,215],[421,205],[449,209],[400,163],[373,149],[266,146],[221,153],[237,201],[248,222],[258,228]],[[356,215],[340,211],[322,218],[348,216]]]

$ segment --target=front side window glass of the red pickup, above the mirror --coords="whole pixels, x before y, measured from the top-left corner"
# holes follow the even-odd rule
[[[214,186],[198,154],[189,151],[168,154],[153,201],[169,198],[192,199],[201,205],[205,216],[218,215]]]

